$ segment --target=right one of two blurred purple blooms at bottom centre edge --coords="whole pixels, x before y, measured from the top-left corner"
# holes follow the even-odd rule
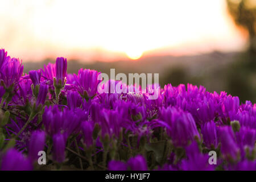
[[[147,162],[142,155],[130,158],[127,162],[132,171],[147,171]]]

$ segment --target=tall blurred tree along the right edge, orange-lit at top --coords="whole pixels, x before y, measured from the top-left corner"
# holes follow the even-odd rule
[[[256,102],[256,1],[226,0],[226,2],[234,22],[249,34],[249,49],[238,56],[226,71],[227,91],[240,96],[242,101],[251,98]]]

